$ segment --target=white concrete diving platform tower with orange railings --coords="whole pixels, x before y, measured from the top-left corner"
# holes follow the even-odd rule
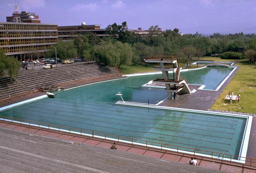
[[[148,56],[145,58],[145,62],[160,64],[160,67],[156,66],[153,69],[162,71],[164,78],[157,78],[152,82],[165,84],[165,90],[168,93],[169,99],[172,99],[172,93],[174,95],[174,99],[176,97],[177,92],[181,92],[183,94],[191,93],[185,78],[180,78],[181,67],[178,67],[176,56]],[[169,66],[165,67],[164,64],[169,64]],[[169,76],[169,71],[173,72],[173,77]]]

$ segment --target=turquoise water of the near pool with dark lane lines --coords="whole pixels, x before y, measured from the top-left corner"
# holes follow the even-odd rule
[[[245,118],[116,105],[125,101],[154,103],[161,89],[141,88],[155,76],[96,83],[2,111],[1,115],[107,133],[133,139],[238,155]],[[156,97],[156,98],[155,98]]]

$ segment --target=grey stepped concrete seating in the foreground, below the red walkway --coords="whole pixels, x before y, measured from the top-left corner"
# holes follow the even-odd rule
[[[55,138],[0,128],[1,173],[222,172]]]

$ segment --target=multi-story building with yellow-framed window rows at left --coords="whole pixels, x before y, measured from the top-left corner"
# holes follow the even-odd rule
[[[0,48],[6,55],[45,52],[57,42],[57,24],[0,22]]]

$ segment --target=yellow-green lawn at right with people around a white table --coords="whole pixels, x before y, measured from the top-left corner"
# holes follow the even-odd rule
[[[229,60],[232,61],[232,60]],[[238,62],[240,61],[240,62]],[[236,75],[223,90],[218,99],[212,105],[211,109],[256,113],[256,66],[248,65],[246,60],[236,61],[236,66],[240,66]],[[242,91],[243,90],[243,91]],[[225,102],[228,91],[233,91],[234,95],[241,95],[240,103]],[[227,105],[224,105],[227,104]]]

